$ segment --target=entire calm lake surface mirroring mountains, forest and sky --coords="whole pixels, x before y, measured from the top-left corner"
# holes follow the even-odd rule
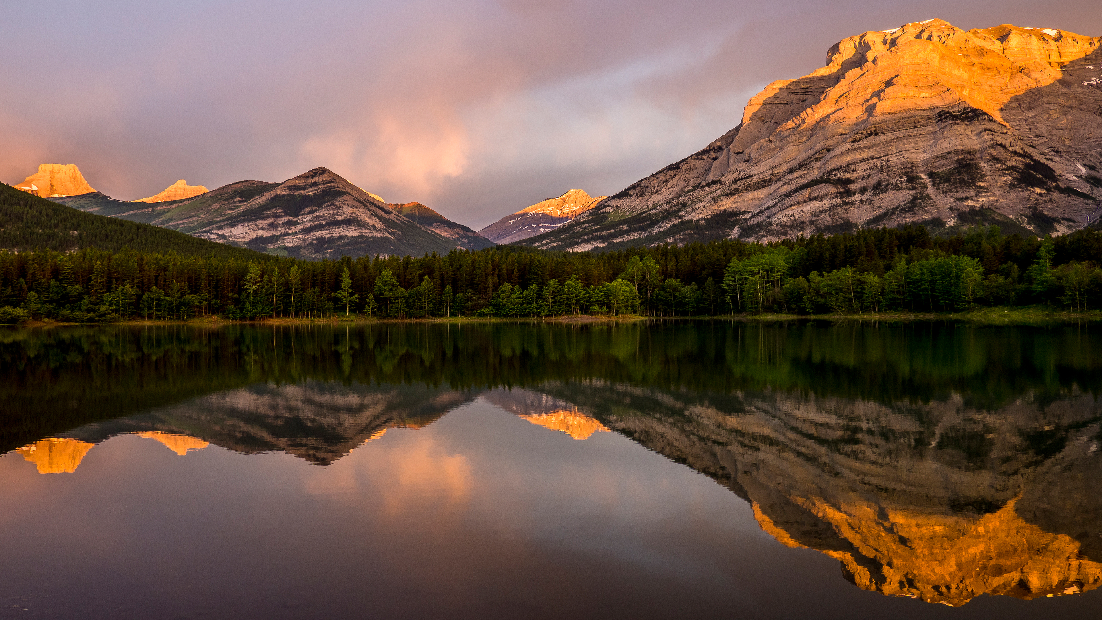
[[[1100,327],[8,329],[0,373],[2,618],[1102,614]]]

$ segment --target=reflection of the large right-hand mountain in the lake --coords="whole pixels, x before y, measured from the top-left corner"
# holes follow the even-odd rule
[[[854,585],[952,606],[1102,586],[1102,409],[1090,395],[997,410],[803,395],[541,388],[750,502],[764,531]]]

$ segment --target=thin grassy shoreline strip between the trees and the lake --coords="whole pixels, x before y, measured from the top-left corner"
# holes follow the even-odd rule
[[[780,323],[795,321],[831,321],[831,322],[918,322],[918,321],[958,321],[974,324],[998,324],[998,325],[1035,325],[1052,323],[1079,323],[1102,321],[1102,311],[1091,310],[1085,312],[1071,312],[1057,310],[1045,306],[1027,307],[993,307],[977,308],[965,312],[866,312],[863,314],[720,314],[701,317],[642,317],[638,314],[592,316],[592,314],[570,314],[565,317],[431,317],[428,319],[379,319],[364,316],[333,317],[329,319],[260,319],[253,321],[235,321],[222,319],[219,317],[199,317],[183,321],[172,320],[127,320],[111,323],[65,323],[45,319],[42,321],[28,321],[20,323],[22,327],[45,328],[80,324],[112,324],[112,325],[228,325],[228,324],[342,324],[342,323],[633,323],[645,321],[669,321],[669,320],[713,320],[713,321],[739,321],[746,323]]]

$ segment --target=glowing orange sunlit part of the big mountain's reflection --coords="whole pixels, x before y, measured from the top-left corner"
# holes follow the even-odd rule
[[[819,549],[842,563],[865,590],[940,602],[952,607],[980,595],[1022,599],[1073,595],[1102,586],[1102,564],[1080,556],[1081,545],[1026,523],[1017,500],[992,514],[966,517],[888,511],[877,506],[831,506],[821,498],[793,502],[830,523],[880,575],[853,553]],[[761,530],[788,547],[809,548],[779,527],[753,502]]]

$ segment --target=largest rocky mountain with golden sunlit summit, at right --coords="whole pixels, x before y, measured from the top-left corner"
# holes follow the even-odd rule
[[[704,149],[526,244],[582,250],[905,223],[1078,229],[1102,197],[1100,45],[942,20],[851,36],[824,67],[755,95]]]

